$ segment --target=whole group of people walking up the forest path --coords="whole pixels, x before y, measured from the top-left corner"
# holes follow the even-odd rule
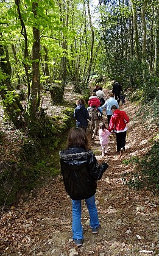
[[[102,157],[108,152],[108,136],[113,132],[116,134],[117,151],[122,154],[125,151],[126,124],[129,123],[129,116],[123,110],[119,110],[121,99],[119,94],[115,94],[116,91],[116,87],[113,87],[114,94],[108,94],[105,101],[102,87],[96,87],[88,101],[90,108],[96,107],[101,113],[104,108],[106,109],[108,127],[104,122],[99,124]],[[117,99],[116,96],[118,96]],[[86,132],[89,114],[85,107],[85,100],[78,99],[76,104],[77,107],[74,110],[76,127],[69,131],[66,149],[59,154],[65,190],[72,202],[72,239],[77,246],[82,246],[82,200],[85,200],[90,214],[91,232],[97,233],[100,224],[94,195],[97,180],[102,178],[108,165],[105,162],[99,165],[93,151],[90,150]]]

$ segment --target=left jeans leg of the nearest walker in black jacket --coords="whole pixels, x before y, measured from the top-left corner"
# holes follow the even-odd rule
[[[83,239],[81,200],[72,200],[72,238]]]

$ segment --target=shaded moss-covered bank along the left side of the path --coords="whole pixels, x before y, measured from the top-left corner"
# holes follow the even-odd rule
[[[17,155],[8,154],[0,163],[0,206],[15,204],[21,196],[37,187],[47,177],[60,173],[58,151],[65,146],[73,126],[73,108],[64,108],[60,116],[44,116],[21,134]],[[38,124],[37,124],[38,122]],[[5,143],[1,136],[0,143]]]

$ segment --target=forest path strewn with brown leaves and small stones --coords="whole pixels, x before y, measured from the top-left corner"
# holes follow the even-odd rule
[[[72,93],[68,91],[67,95],[71,100]],[[71,239],[71,201],[62,177],[57,176],[36,193],[31,191],[27,202],[21,200],[4,213],[0,255],[159,255],[158,198],[150,191],[129,190],[122,184],[121,177],[132,168],[122,161],[147,152],[151,146],[149,140],[157,130],[134,118],[135,104],[126,101],[122,109],[130,116],[130,123],[126,151],[121,159],[116,154],[115,135],[110,137],[108,155],[104,158],[101,158],[99,138],[96,136],[91,140],[90,136],[91,148],[99,163],[110,159],[109,168],[97,182],[99,232],[96,235],[91,233],[88,210],[83,202],[85,240],[79,248],[74,245]],[[107,123],[105,113],[104,120]]]

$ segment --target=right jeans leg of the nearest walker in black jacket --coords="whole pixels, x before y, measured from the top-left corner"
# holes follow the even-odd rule
[[[90,213],[90,226],[99,227],[99,219],[97,215],[97,207],[95,204],[95,196],[91,196],[88,199],[85,199],[87,204],[88,212]]]

